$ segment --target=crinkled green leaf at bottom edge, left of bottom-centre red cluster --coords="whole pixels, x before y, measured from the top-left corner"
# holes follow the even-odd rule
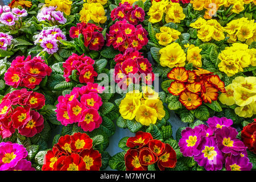
[[[119,152],[109,159],[109,167],[118,171],[125,171],[125,153]]]

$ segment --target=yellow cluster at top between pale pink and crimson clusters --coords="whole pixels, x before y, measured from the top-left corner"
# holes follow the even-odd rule
[[[80,21],[88,23],[93,20],[94,23],[105,23],[107,17],[105,16],[104,7],[101,3],[84,3],[80,11]]]

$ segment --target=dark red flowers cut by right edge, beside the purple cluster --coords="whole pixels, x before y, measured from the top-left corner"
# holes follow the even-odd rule
[[[241,139],[245,146],[248,147],[248,150],[256,154],[256,119],[254,119],[254,122],[243,127]]]

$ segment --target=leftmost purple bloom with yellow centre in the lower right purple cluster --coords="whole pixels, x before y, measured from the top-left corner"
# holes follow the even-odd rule
[[[187,127],[185,130],[181,131],[181,139],[179,141],[180,152],[184,156],[192,157],[194,155],[199,155],[200,150],[197,146],[201,142],[201,138],[206,135],[206,132],[201,128],[196,126],[194,129]]]

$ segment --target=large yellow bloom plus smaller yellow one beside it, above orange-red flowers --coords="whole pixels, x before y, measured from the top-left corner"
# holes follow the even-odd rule
[[[201,48],[194,46],[193,44],[187,45],[187,57],[183,49],[178,43],[171,43],[168,46],[160,49],[160,65],[162,67],[184,67],[185,61],[187,60],[188,63],[192,63],[193,67],[201,67],[202,56],[200,55]]]

